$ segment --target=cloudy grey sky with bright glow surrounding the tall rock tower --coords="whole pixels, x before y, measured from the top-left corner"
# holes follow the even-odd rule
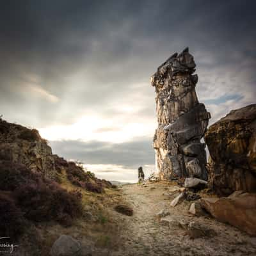
[[[213,124],[255,103],[255,1],[3,0],[0,114],[33,127],[55,154],[97,177],[154,171],[150,76],[193,54],[196,93]]]

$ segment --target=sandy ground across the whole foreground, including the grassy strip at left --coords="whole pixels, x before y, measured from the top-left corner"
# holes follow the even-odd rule
[[[210,216],[189,214],[189,201],[170,206],[172,199],[179,195],[179,192],[173,192],[174,188],[177,185],[162,181],[146,186],[125,185],[119,189],[108,189],[102,194],[84,192],[87,196],[84,197],[84,211],[91,212],[93,219],[88,219],[85,214],[71,227],[38,223],[22,237],[19,250],[12,255],[49,256],[52,244],[61,234],[80,241],[82,249],[79,256],[88,255],[88,252],[92,252],[93,256],[256,255],[256,237],[250,237]],[[118,204],[131,206],[133,216],[116,212],[114,208]],[[168,218],[172,218],[171,223],[163,223],[157,218],[157,212],[162,209],[170,212]],[[212,228],[217,235],[191,239],[180,227],[180,221],[201,223]]]

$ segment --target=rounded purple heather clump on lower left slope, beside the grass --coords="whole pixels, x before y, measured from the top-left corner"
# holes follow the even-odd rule
[[[69,224],[82,212],[81,197],[68,193],[55,182],[24,184],[15,191],[15,196],[28,220],[56,220],[63,224],[67,220]]]

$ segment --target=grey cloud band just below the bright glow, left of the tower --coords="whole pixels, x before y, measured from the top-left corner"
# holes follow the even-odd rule
[[[150,138],[113,144],[100,141],[51,141],[54,153],[84,164],[118,164],[127,168],[154,164]]]

